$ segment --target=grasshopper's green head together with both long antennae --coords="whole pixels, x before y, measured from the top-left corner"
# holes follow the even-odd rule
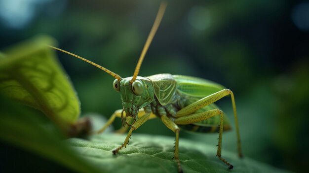
[[[144,60],[145,54],[150,46],[150,43],[152,42],[155,32],[158,29],[161,19],[163,17],[165,8],[166,8],[167,3],[162,2],[159,8],[159,11],[156,15],[156,18],[154,20],[154,25],[153,28],[150,31],[150,34],[148,35],[148,38],[146,40],[145,46],[142,50],[141,56],[137,62],[136,68],[134,70],[133,76],[132,77],[127,77],[127,78],[121,78],[118,74],[115,72],[106,69],[96,63],[93,63],[92,61],[89,61],[87,59],[84,59],[78,55],[75,55],[71,52],[59,49],[57,47],[49,46],[53,49],[59,50],[61,52],[70,54],[76,58],[81,59],[82,61],[85,61],[99,69],[102,69],[103,71],[107,72],[111,76],[115,77],[115,81],[113,83],[114,89],[120,93],[121,100],[122,100],[122,112],[121,112],[121,120],[122,120],[122,125],[124,126],[124,122],[128,126],[132,126],[133,123],[137,120],[137,115],[138,111],[140,108],[150,104],[153,99],[154,99],[154,86],[153,83],[150,79],[146,77],[140,77],[138,76],[138,73],[140,71],[142,62]],[[134,122],[132,124],[128,124],[125,121],[125,117],[123,117],[123,112],[125,112],[125,117],[130,116],[134,118]]]

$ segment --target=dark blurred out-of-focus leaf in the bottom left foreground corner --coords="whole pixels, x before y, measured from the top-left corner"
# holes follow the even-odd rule
[[[33,151],[71,170],[98,173],[95,167],[60,142],[62,136],[57,133],[59,130],[53,128],[49,131],[43,128],[40,125],[42,122],[39,121],[40,115],[37,113],[20,105],[11,104],[8,99],[0,96],[0,139]]]

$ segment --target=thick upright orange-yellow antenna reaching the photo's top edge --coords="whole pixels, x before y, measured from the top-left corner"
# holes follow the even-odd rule
[[[132,77],[130,83],[134,82],[134,80],[136,79],[136,77],[137,77],[137,75],[140,71],[140,68],[141,68],[142,62],[144,60],[144,57],[146,55],[146,52],[147,52],[147,50],[150,46],[150,43],[152,42],[152,40],[154,38],[155,32],[158,29],[160,22],[162,20],[163,14],[165,12],[166,5],[167,5],[167,3],[165,1],[161,2],[161,4],[160,4],[159,11],[158,11],[156,18],[154,20],[153,28],[151,29],[150,34],[148,35],[148,38],[146,40],[143,51],[141,53],[140,59],[137,62],[137,65],[136,65],[136,68],[135,68],[135,71],[134,71],[134,74],[133,74],[133,77]]]

